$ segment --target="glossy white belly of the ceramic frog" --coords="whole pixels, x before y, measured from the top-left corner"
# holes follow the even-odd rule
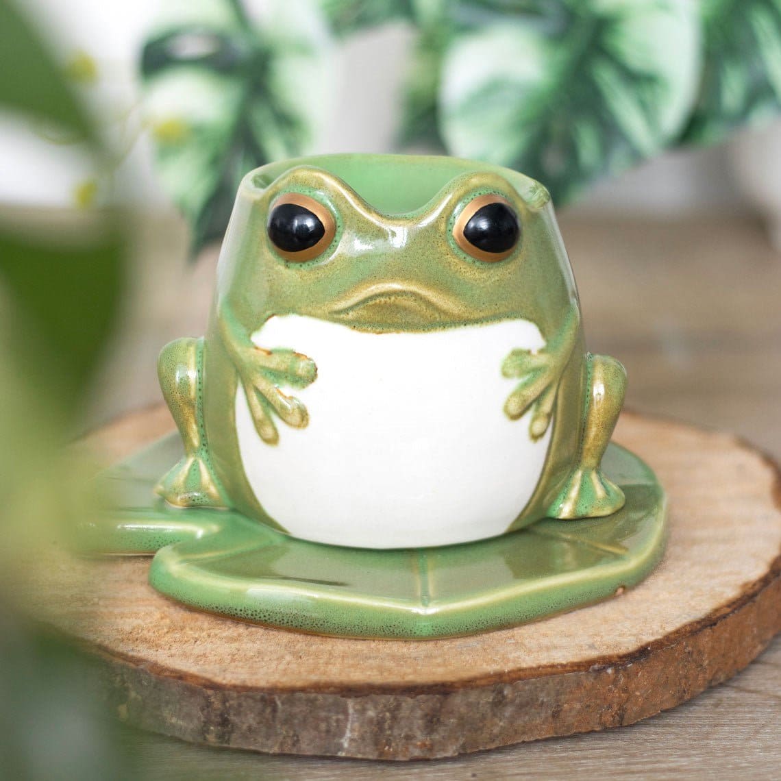
[[[547,433],[503,411],[517,380],[501,376],[514,348],[540,331],[505,320],[430,333],[362,333],[324,320],[270,319],[252,337],[312,358],[317,380],[293,391],[309,424],[278,422],[264,443],[241,385],[236,427],[248,482],[295,537],[355,547],[424,547],[494,537],[526,506]]]

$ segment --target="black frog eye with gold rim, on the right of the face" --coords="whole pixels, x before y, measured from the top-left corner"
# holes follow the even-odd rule
[[[463,251],[493,263],[512,253],[521,237],[515,209],[501,195],[478,195],[458,215],[453,237]]]

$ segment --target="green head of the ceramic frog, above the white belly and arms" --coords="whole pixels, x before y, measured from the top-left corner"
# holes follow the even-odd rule
[[[241,184],[217,300],[247,330],[297,314],[375,332],[523,318],[576,300],[547,191],[488,164],[323,155]]]

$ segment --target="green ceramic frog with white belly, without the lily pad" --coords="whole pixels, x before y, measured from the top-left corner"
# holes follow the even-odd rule
[[[626,374],[587,353],[550,198],[446,157],[249,173],[204,338],[163,349],[171,505],[295,537],[426,547],[622,507]]]

